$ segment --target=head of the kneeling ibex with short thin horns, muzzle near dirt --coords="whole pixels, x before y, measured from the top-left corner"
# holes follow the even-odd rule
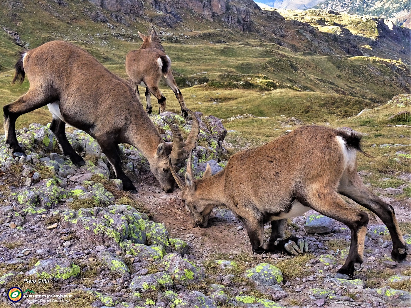
[[[170,168],[170,170],[175,179],[175,182],[177,182],[178,186],[181,189],[181,197],[184,200],[185,205],[187,205],[189,209],[193,227],[199,226],[201,228],[205,228],[208,224],[208,219],[210,218],[212,208],[215,206],[215,202],[211,200],[209,194],[199,193],[197,184],[201,180],[195,180],[193,178],[191,157],[192,151],[190,152],[190,156],[187,161],[185,183],[178,176],[177,172],[175,172],[174,168]],[[172,166],[171,161],[169,161],[169,164],[170,166]],[[211,177],[211,168],[209,164],[207,164],[207,168],[205,168],[203,179],[206,179],[208,177]]]

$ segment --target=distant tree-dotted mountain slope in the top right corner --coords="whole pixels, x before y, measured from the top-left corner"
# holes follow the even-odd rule
[[[314,9],[331,9],[356,15],[372,15],[388,19],[395,25],[411,28],[409,0],[326,0]]]

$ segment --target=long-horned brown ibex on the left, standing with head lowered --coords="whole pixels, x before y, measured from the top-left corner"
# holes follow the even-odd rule
[[[13,154],[24,155],[16,139],[17,117],[47,105],[53,114],[50,129],[63,154],[75,165],[85,162],[67,140],[66,123],[97,140],[113,165],[115,176],[122,180],[124,190],[136,191],[136,188],[122,171],[118,143],[137,147],[150,163],[162,189],[173,191],[169,158],[181,168],[190,149],[195,147],[199,122],[194,113],[189,110],[193,125],[186,143],[178,130],[173,143],[165,143],[129,83],[83,49],[65,41],[51,41],[23,52],[15,69],[13,83],[23,82],[27,74],[30,88],[3,107],[6,146]]]

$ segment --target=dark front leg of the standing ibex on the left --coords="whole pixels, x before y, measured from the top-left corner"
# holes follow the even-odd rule
[[[121,168],[121,158],[118,154],[118,145],[113,143],[113,138],[107,136],[104,140],[97,138],[97,141],[102,148],[102,152],[107,156],[111,165],[113,166],[115,177],[120,179],[123,182],[123,189],[125,191],[131,191],[132,193],[137,193],[137,188],[133,185],[133,182],[125,175],[124,171]]]

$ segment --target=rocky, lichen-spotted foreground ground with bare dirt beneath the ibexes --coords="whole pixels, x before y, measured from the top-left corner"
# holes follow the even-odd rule
[[[222,146],[226,130],[219,119],[197,115],[201,134],[195,174],[201,176],[207,162],[214,174],[228,156]],[[187,133],[191,128],[178,115],[162,116]],[[170,141],[168,126],[159,116],[152,120]],[[120,147],[138,195],[124,193],[121,181],[110,179],[106,157],[86,133],[67,132],[85,157],[80,168],[59,154],[47,126],[31,124],[17,134],[26,156],[11,156],[4,138],[0,147],[0,305],[12,305],[7,291],[14,286],[35,294],[70,294],[67,305],[73,307],[410,305],[411,258],[401,263],[390,259],[392,241],[371,212],[358,279],[335,279],[351,239],[339,222],[309,211],[290,220],[287,230],[308,239],[309,253],[255,255],[244,226],[225,208],[213,210],[208,228],[192,228],[179,190],[162,191],[135,148]],[[395,199],[401,188],[383,193],[411,244],[409,199]],[[50,281],[28,283],[25,278]],[[28,298],[14,306],[34,303]]]

